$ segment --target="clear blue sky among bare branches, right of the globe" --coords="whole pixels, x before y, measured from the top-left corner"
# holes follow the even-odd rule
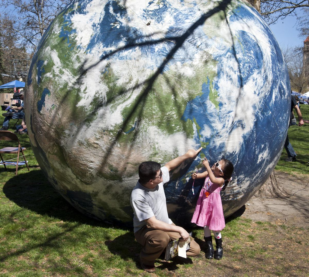
[[[278,23],[269,25],[279,43],[281,49],[286,46],[303,46],[303,41],[306,38],[299,38],[297,28],[297,18],[288,16],[285,19],[278,20]]]

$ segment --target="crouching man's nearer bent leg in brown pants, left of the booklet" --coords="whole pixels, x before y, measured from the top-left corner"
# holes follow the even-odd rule
[[[134,233],[136,241],[143,246],[140,252],[141,262],[148,266],[155,265],[163,250],[170,241],[166,232],[145,226]]]

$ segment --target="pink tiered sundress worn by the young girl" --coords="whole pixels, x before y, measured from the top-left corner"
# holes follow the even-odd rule
[[[208,197],[205,195],[206,191],[209,192]],[[192,223],[201,227],[208,226],[214,231],[221,231],[225,227],[220,191],[220,186],[206,177],[196,203]]]

